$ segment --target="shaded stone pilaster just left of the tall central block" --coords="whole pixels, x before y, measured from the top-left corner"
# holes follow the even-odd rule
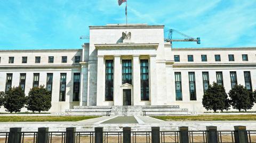
[[[80,62],[81,64],[81,79],[80,79],[80,106],[87,105],[87,83],[88,83],[88,63]]]

